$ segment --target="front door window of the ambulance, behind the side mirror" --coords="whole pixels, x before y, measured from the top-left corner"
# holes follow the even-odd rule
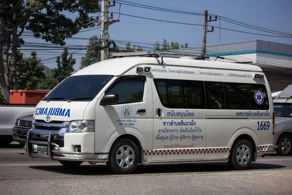
[[[145,78],[125,78],[106,94],[117,94],[119,104],[143,101]]]

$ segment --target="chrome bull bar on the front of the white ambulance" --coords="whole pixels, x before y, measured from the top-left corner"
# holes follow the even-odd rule
[[[48,135],[48,141],[36,141],[32,140],[33,135]],[[87,161],[87,162],[108,162],[107,158],[98,158],[93,153],[83,153],[83,152],[68,152],[61,151],[60,146],[54,142],[55,133],[37,133],[29,130],[26,137],[26,153],[30,157],[41,157],[49,158],[51,160],[68,160],[68,161]],[[36,145],[46,145],[48,146],[48,155],[41,155],[33,152],[33,144]],[[56,148],[57,150],[54,150]],[[66,157],[63,155],[76,155],[75,157]],[[91,158],[81,157],[81,156],[91,156]]]

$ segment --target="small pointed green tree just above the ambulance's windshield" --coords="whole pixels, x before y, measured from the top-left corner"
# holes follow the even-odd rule
[[[68,55],[68,49],[65,47],[61,57],[58,56],[56,59],[57,68],[53,69],[53,76],[58,83],[74,71],[73,65],[76,63],[76,60],[73,59],[72,54],[69,57]]]

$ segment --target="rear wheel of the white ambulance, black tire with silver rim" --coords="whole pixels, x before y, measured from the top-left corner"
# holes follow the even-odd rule
[[[237,156],[239,159],[237,159]],[[246,139],[239,139],[231,148],[228,164],[236,170],[246,170],[250,167],[253,159],[254,149],[251,142]]]

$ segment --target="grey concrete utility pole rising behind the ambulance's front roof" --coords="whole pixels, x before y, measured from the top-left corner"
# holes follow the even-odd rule
[[[120,20],[109,20],[112,19],[112,13],[109,17],[109,8],[115,6],[115,0],[112,1],[110,5],[110,0],[101,1],[101,20],[93,20],[91,23],[101,23],[101,40],[102,40],[102,49],[100,54],[100,60],[109,59],[109,23],[118,22]]]

